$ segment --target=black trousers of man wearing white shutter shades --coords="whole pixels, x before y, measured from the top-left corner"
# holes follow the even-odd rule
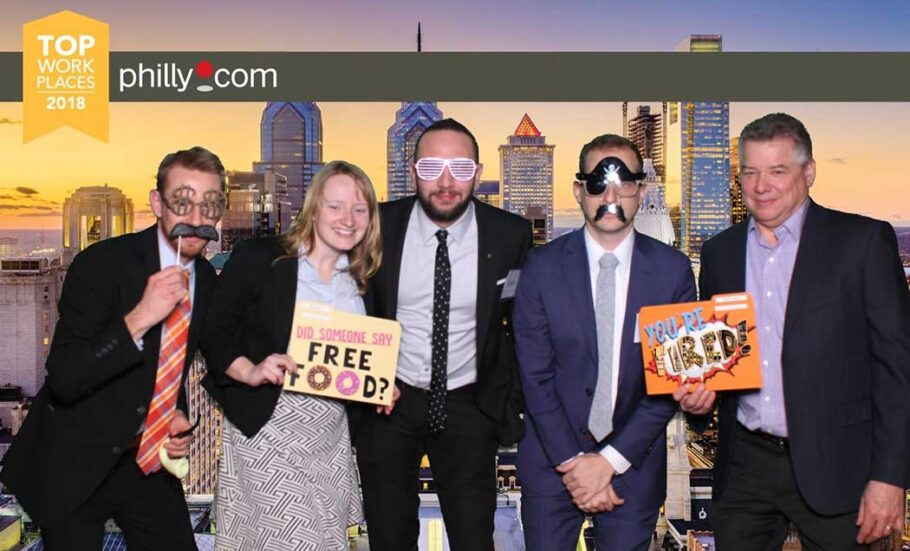
[[[474,385],[449,391],[446,428],[427,429],[426,391],[398,382],[390,416],[371,413],[355,436],[370,551],[417,549],[418,469],[430,459],[452,551],[493,551],[496,426],[474,403]]]

